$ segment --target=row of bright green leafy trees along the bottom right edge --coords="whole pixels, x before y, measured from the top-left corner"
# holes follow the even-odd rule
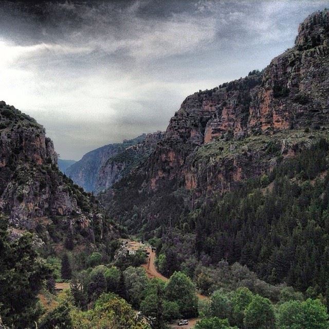
[[[238,288],[230,293],[216,290],[209,300],[200,305],[202,319],[197,329],[305,329],[327,328],[328,314],[325,306],[314,299],[294,299],[283,290],[277,304],[248,288]]]

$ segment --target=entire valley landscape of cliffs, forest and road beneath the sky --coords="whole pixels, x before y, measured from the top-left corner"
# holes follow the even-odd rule
[[[165,132],[78,161],[1,101],[0,328],[328,328],[328,76],[324,9]]]

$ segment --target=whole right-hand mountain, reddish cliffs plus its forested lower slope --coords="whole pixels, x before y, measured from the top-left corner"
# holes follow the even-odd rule
[[[161,238],[163,273],[196,276],[197,262],[227,259],[271,282],[323,286],[328,76],[324,10],[263,71],[188,96],[154,152],[102,203],[131,232]]]

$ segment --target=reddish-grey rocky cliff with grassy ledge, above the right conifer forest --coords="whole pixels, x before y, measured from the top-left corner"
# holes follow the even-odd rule
[[[328,31],[329,11],[313,13],[295,46],[262,72],[188,96],[144,164],[102,196],[112,214],[137,227],[155,218],[168,222],[326,137]],[[123,195],[131,207],[120,206]],[[178,214],[159,208],[159,198],[163,204],[177,195],[185,205]]]

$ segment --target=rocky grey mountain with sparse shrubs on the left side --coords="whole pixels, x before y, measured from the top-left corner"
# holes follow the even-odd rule
[[[115,235],[97,200],[57,168],[45,129],[14,106],[0,102],[0,216],[14,235],[35,232],[60,246],[99,245]]]

